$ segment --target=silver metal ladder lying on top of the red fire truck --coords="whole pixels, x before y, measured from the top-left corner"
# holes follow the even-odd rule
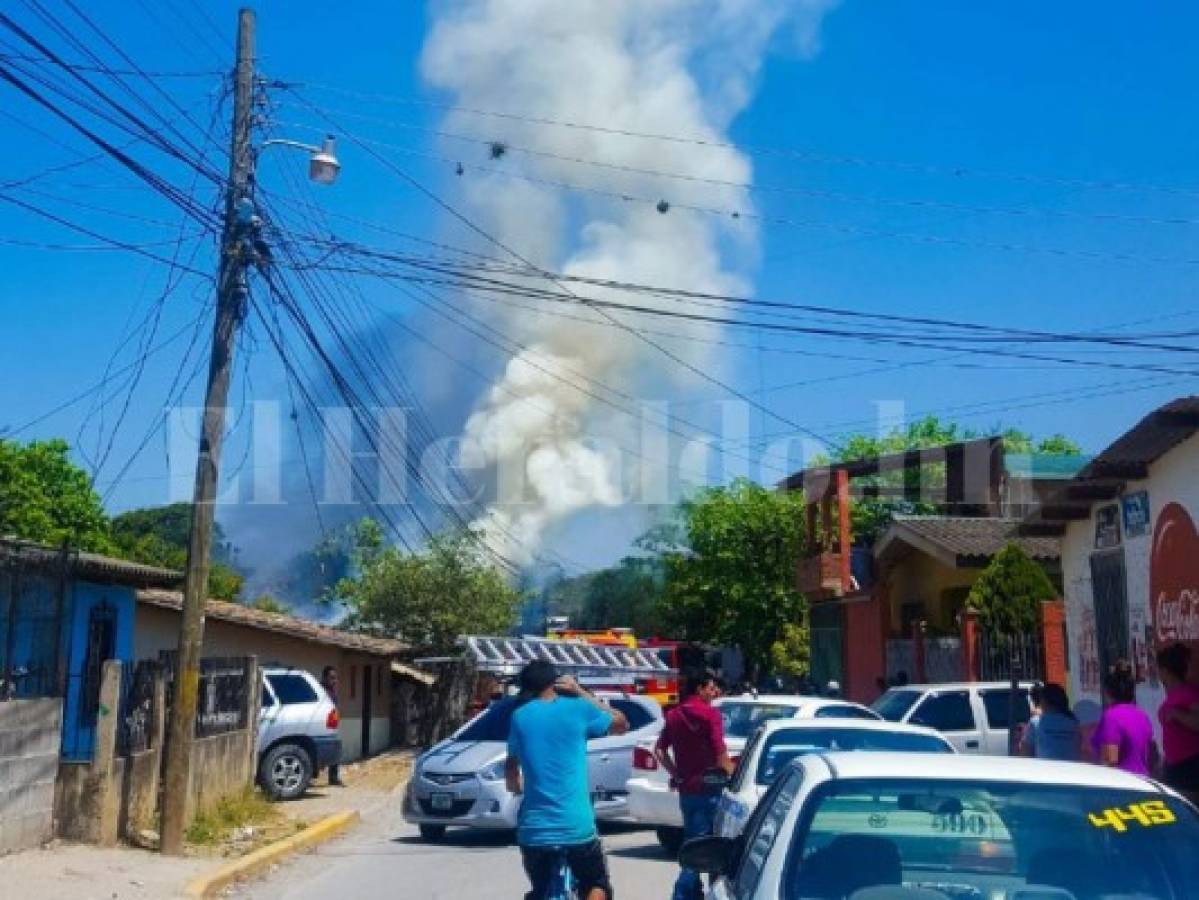
[[[583,683],[632,684],[635,678],[667,678],[675,674],[650,650],[548,638],[470,635],[463,642],[481,672],[500,677],[514,677],[534,659],[548,659],[559,671],[573,675]]]

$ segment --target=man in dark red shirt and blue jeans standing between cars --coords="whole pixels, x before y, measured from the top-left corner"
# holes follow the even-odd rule
[[[712,701],[721,695],[716,676],[707,670],[683,678],[683,700],[667,713],[653,755],[679,789],[683,839],[712,833],[719,795],[704,785],[704,773],[718,768],[733,774],[733,760],[724,745],[724,724]],[[703,898],[699,872],[683,869],[675,882],[673,900]]]

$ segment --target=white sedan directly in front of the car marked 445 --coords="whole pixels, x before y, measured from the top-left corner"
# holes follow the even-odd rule
[[[793,760],[830,751],[956,753],[932,729],[869,719],[775,719],[749,739],[721,795],[716,833],[735,838],[766,790]]]

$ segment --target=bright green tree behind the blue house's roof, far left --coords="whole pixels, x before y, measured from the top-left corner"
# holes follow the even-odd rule
[[[66,441],[0,439],[0,536],[110,550],[104,507]]]

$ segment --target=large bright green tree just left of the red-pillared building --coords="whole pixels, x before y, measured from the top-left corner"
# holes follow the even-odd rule
[[[679,509],[679,543],[664,551],[662,615],[676,636],[739,647],[752,674],[773,647],[801,659],[807,603],[795,590],[805,546],[799,493],[747,481],[709,488]],[[791,630],[788,630],[791,627]]]

